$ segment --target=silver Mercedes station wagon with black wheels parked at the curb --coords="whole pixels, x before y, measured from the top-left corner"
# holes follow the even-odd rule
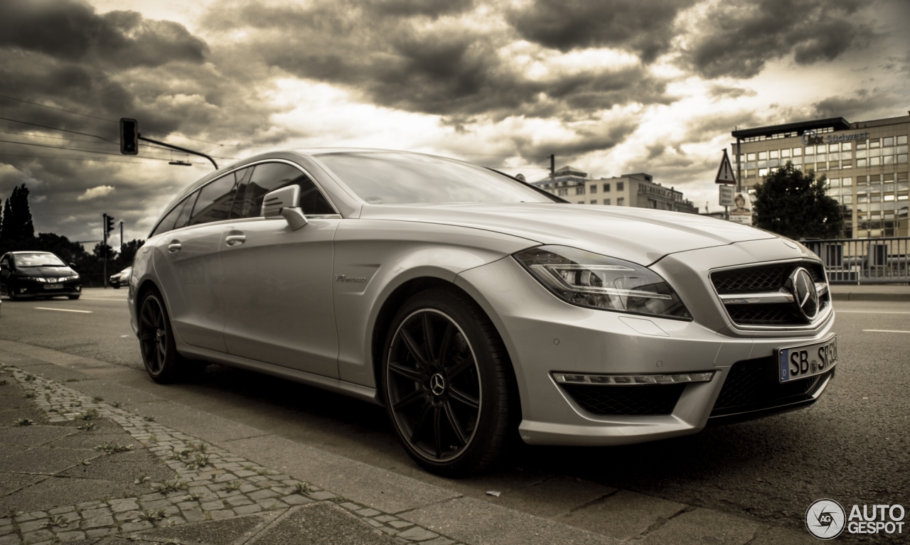
[[[621,445],[804,407],[837,363],[800,244],[397,151],[269,153],[199,180],[137,252],[128,304],[154,380],[217,362],[366,399],[450,476],[515,435]]]

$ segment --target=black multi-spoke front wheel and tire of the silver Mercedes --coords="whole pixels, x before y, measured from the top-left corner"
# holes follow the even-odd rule
[[[511,426],[509,366],[490,318],[469,297],[431,289],[408,299],[386,338],[382,388],[410,457],[445,477],[499,459]]]

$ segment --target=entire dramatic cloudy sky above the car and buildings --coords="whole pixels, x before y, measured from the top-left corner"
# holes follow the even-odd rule
[[[905,0],[3,0],[0,197],[25,183],[37,231],[146,237],[211,166],[118,155],[135,117],[219,165],[369,146],[536,180],[552,153],[703,209],[736,126],[907,115],[908,24]]]

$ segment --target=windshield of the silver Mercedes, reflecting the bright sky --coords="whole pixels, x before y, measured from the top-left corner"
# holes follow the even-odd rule
[[[488,168],[442,157],[388,151],[317,157],[371,205],[561,202]]]

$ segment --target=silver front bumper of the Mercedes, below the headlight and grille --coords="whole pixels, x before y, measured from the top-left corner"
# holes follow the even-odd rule
[[[686,254],[690,255],[676,255],[673,263],[664,264],[674,267],[673,274],[659,271],[674,288],[677,288],[674,280],[680,275],[700,276],[701,284],[707,282],[707,268],[696,270],[704,267],[704,252],[694,250]],[[780,258],[779,251],[777,254]],[[686,267],[687,260],[698,265]],[[723,265],[715,262],[712,267]],[[688,270],[683,271],[684,268]],[[686,278],[681,280],[685,283]],[[456,284],[480,302],[510,352],[521,396],[521,438],[530,444],[622,445],[687,435],[703,429],[709,420],[720,423],[734,418],[758,418],[811,404],[831,379],[829,376],[818,381],[799,399],[779,397],[771,399],[770,405],[763,402],[767,399],[747,399],[752,403],[736,405],[734,399],[730,410],[713,415],[715,402],[734,364],[773,359],[774,348],[829,338],[834,334],[834,313],[815,324],[812,330],[743,332],[731,327],[716,296],[709,293],[710,286],[704,286],[700,296],[696,296],[691,286],[683,290],[689,293],[681,293],[695,321],[580,308],[552,296],[511,257],[465,271],[456,278]],[[739,367],[743,365],[761,364],[743,363]],[[554,372],[669,375],[704,371],[714,372],[710,382],[609,387],[626,389],[614,390],[621,393],[629,389],[667,392],[663,399],[657,399],[656,406],[668,403],[669,396],[672,409],[655,411],[654,403],[642,409],[641,399],[621,399],[621,404],[633,406],[632,416],[617,414],[623,410],[615,408],[605,409],[610,414],[595,414],[600,401],[591,396],[598,395],[601,390],[597,389],[607,387],[572,391],[552,377]]]

